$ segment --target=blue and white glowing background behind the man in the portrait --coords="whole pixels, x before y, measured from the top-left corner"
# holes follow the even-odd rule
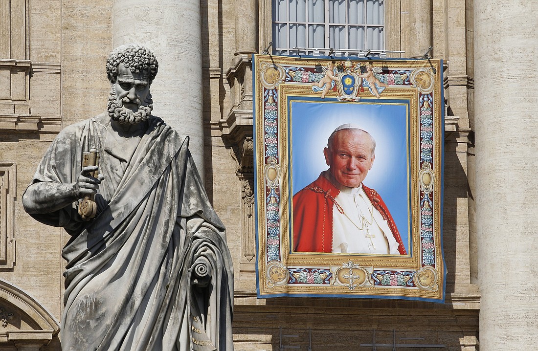
[[[395,103],[395,104],[390,104]],[[289,101],[291,192],[295,194],[329,167],[323,148],[336,127],[359,125],[376,140],[376,159],[364,180],[377,190],[400,231],[409,252],[409,124],[408,105],[402,101],[363,99],[359,103],[334,99]]]

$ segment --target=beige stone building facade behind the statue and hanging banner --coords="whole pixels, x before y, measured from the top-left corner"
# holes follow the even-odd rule
[[[309,345],[313,350],[371,350],[372,340],[378,347],[395,342],[414,350],[422,349],[418,345],[477,350],[479,329],[485,350],[533,349],[532,336],[538,329],[536,311],[528,304],[536,302],[531,292],[536,291],[538,280],[532,277],[536,269],[526,267],[534,267],[537,258],[535,219],[527,215],[534,213],[535,205],[530,211],[522,211],[522,206],[536,203],[533,196],[538,184],[528,164],[536,161],[532,131],[537,119],[535,103],[531,103],[534,91],[520,82],[528,70],[533,76],[526,81],[532,81],[532,86],[536,81],[537,26],[534,19],[524,16],[538,9],[475,2],[385,2],[386,48],[406,51],[404,56],[422,56],[433,46],[434,58],[445,60],[447,66],[443,246],[448,274],[444,304],[257,299],[253,218],[249,214],[253,213],[250,53],[263,51],[271,41],[271,1],[203,0],[200,7],[197,2],[170,2],[175,4],[173,9],[160,8],[158,16],[152,13],[157,0],[2,2],[0,349],[60,350],[57,334],[64,267],[60,252],[68,235],[31,219],[20,199],[61,128],[105,109],[110,87],[104,62],[111,49],[125,40],[158,48],[157,58],[168,62],[160,67],[156,89],[162,81],[168,84],[166,89],[175,87],[177,94],[154,94],[155,114],[171,118],[178,130],[193,135],[191,142],[199,150],[197,162],[205,174],[208,195],[226,225],[236,277],[236,350],[278,350],[281,346],[307,350]],[[507,20],[511,17],[521,17],[518,26]],[[188,26],[180,25],[185,21],[194,26],[192,33]],[[201,37],[196,37],[197,26]],[[521,26],[523,30],[516,29]],[[490,33],[492,28],[497,34]],[[533,42],[528,44],[525,38]],[[492,54],[497,61],[490,61]],[[174,66],[174,62],[184,66]],[[497,72],[500,67],[510,69],[516,79],[502,81],[507,85],[498,80],[493,85],[489,71]],[[480,92],[476,109],[475,70]],[[173,80],[175,76],[181,80]],[[175,99],[172,107],[165,99]],[[178,116],[168,116],[168,111],[184,104],[194,111],[187,126]],[[526,133],[529,137],[519,134],[523,130],[530,132]],[[510,142],[517,145],[507,149]],[[525,187],[518,188],[515,182]],[[505,188],[501,198],[495,192],[499,187]],[[514,188],[519,189],[518,195],[508,195]],[[502,207],[506,211],[497,214]],[[512,255],[519,258],[511,260]],[[507,266],[523,276],[509,273]],[[497,273],[500,276],[495,277]],[[502,286],[495,285],[497,281]],[[521,281],[527,282],[525,289],[514,289]],[[514,305],[503,307],[512,297]],[[525,327],[521,329],[515,320],[522,320]],[[500,329],[505,331],[499,334]]]

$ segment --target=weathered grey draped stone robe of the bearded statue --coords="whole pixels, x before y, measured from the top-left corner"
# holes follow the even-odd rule
[[[152,117],[130,155],[109,128],[102,114],[62,130],[33,181],[75,182],[82,152],[100,151],[95,219],[81,220],[80,200],[32,214],[72,235],[62,349],[232,350],[231,258],[188,138]]]

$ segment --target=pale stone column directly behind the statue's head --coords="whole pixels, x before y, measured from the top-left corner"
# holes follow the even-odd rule
[[[153,51],[153,114],[181,134],[203,177],[201,10],[199,0],[114,0],[113,46],[134,42]]]

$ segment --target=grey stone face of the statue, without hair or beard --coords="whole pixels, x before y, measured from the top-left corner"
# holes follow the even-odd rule
[[[132,73],[129,68],[120,63],[114,89],[117,100],[123,101],[124,108],[136,112],[139,107],[138,103],[146,101],[150,94],[148,75],[146,72]]]

